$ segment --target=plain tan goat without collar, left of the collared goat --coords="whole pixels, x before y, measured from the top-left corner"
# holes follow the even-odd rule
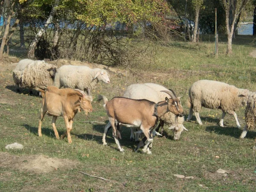
[[[67,131],[61,135],[61,139],[67,135],[68,143],[72,143],[70,131],[72,130],[74,116],[77,112],[81,112],[81,110],[84,110],[86,115],[88,112],[93,111],[91,104],[93,101],[92,96],[87,96],[84,91],[79,89],[58,89],[54,86],[47,87],[45,91],[38,88],[35,88],[35,90],[40,91],[43,97],[39,116],[38,136],[42,136],[42,121],[47,113],[47,115],[52,116],[52,128],[55,137],[59,139],[55,122],[58,116],[63,116]]]

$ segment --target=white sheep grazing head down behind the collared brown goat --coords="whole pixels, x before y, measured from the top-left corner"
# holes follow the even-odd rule
[[[160,92],[161,90],[169,91],[166,87],[159,84],[145,83],[145,84],[131,84],[127,87],[124,93],[124,97],[130,99],[148,99],[155,103],[164,101],[165,97],[168,97],[167,93]],[[175,120],[175,114],[168,112],[161,117],[161,134],[163,133],[163,122],[169,125],[169,129],[173,131],[174,140],[179,140],[180,134],[183,130],[187,129],[183,126],[184,117],[178,117]],[[177,121],[177,122],[176,122]],[[133,128],[131,129],[130,139],[134,139]],[[158,131],[158,130],[156,130]],[[137,139],[137,137],[136,137]]]

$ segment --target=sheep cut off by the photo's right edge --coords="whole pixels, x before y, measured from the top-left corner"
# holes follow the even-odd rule
[[[248,130],[253,130],[255,128],[256,123],[256,92],[251,93],[249,99],[247,101],[247,107],[245,109],[245,120],[246,125],[244,126],[244,130],[240,136],[240,138],[244,138],[247,134]]]

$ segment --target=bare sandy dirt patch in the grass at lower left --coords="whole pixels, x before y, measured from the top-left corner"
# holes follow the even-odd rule
[[[44,155],[16,156],[6,152],[0,153],[0,166],[35,172],[49,173],[59,169],[76,167],[79,162],[67,159],[50,158]]]

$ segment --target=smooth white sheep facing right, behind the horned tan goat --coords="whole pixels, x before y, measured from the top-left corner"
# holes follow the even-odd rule
[[[87,66],[63,65],[58,68],[54,79],[54,86],[70,87],[87,91],[93,89],[99,81],[110,83],[106,70]]]

